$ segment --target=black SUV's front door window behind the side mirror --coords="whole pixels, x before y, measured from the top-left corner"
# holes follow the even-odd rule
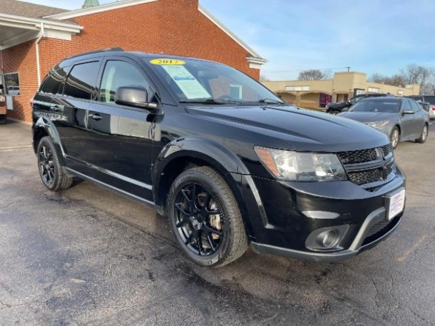
[[[107,61],[101,79],[100,101],[114,102],[116,90],[120,86],[142,86],[148,89],[145,78],[130,63],[117,60]]]

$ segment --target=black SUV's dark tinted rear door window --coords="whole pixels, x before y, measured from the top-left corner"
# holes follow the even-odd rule
[[[90,100],[99,67],[100,63],[97,61],[75,65],[65,83],[64,95]]]

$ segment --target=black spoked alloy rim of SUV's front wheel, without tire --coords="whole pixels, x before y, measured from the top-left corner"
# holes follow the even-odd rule
[[[174,212],[175,226],[187,248],[199,256],[218,251],[224,240],[224,213],[204,186],[184,185],[176,195]]]

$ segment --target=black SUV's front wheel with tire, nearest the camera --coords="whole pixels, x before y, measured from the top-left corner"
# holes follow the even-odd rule
[[[167,215],[177,243],[198,265],[227,265],[248,248],[237,201],[210,167],[194,167],[177,176],[169,191]]]

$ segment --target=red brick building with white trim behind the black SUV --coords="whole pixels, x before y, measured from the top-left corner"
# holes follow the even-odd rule
[[[266,62],[198,0],[124,0],[73,11],[0,0],[0,84],[9,94],[8,117],[31,120],[29,101],[54,64],[107,47],[214,60],[256,79]]]

